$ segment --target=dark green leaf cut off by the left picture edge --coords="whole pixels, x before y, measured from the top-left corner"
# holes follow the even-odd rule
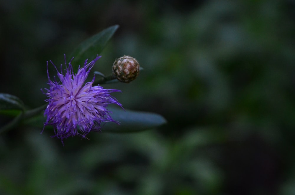
[[[24,110],[24,103],[14,95],[0,93],[0,110]]]

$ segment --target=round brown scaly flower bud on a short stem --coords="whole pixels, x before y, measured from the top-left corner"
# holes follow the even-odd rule
[[[113,65],[113,74],[120,82],[129,83],[139,74],[139,63],[131,56],[124,55],[116,59]]]

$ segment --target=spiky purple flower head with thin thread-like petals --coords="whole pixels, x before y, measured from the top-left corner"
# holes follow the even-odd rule
[[[84,66],[78,68],[78,72],[74,74],[71,61],[66,63],[64,70],[62,71],[62,65],[60,65],[60,72],[53,64],[57,71],[57,76],[60,81],[50,80],[48,73],[48,61],[47,61],[47,77],[49,89],[46,89],[48,99],[47,108],[44,115],[47,116],[45,125],[52,125],[55,131],[55,135],[52,137],[63,139],[70,136],[80,135],[83,138],[90,131],[99,131],[101,123],[104,122],[116,122],[109,115],[111,113],[107,110],[107,105],[113,103],[122,107],[122,105],[110,95],[111,92],[121,92],[120,90],[104,89],[101,86],[92,86],[94,77],[91,82],[87,82],[84,86],[84,82],[93,67],[96,60],[101,56],[96,56],[94,60],[87,63],[85,60]],[[43,128],[44,130],[44,128]]]

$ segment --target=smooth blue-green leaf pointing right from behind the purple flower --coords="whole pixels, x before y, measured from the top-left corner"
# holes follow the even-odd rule
[[[149,130],[167,123],[166,119],[156,113],[122,110],[118,108],[109,108],[113,113],[112,118],[120,122],[106,123],[102,128],[102,132],[126,133]]]

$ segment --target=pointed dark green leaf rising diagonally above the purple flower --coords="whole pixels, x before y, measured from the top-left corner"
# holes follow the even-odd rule
[[[83,41],[71,54],[71,58],[74,57],[74,71],[78,70],[79,65],[83,65],[86,59],[90,62],[100,54],[118,27],[119,25],[111,26]]]

